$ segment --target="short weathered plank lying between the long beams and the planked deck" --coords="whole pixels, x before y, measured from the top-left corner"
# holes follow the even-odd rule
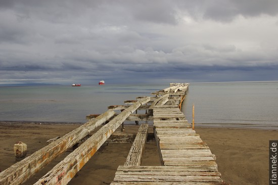
[[[125,166],[140,166],[148,137],[148,124],[140,125],[135,140],[127,156]]]

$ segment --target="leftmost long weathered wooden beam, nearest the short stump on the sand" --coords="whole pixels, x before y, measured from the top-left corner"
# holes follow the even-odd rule
[[[115,114],[107,111],[0,173],[0,184],[20,184]]]

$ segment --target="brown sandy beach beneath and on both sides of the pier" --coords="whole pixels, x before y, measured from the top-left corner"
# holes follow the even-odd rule
[[[27,144],[28,154],[47,145],[50,138],[62,136],[80,124],[0,123],[0,170],[15,163],[13,146]],[[137,126],[126,126],[126,133],[136,133]],[[230,184],[268,184],[268,142],[278,140],[278,131],[240,128],[195,128],[216,155],[222,179]],[[152,132],[150,127],[149,132]],[[131,144],[103,145],[69,184],[110,184],[119,165],[123,165]],[[33,184],[69,152],[39,171],[24,184]],[[142,165],[160,165],[154,140],[149,140]]]

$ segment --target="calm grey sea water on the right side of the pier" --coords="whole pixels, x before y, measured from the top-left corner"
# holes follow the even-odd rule
[[[184,113],[201,126],[278,128],[278,82],[191,83]]]

